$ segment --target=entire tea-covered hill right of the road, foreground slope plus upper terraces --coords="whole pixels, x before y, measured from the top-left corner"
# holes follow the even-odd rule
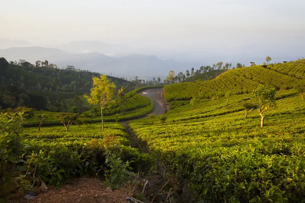
[[[165,98],[176,108],[128,126],[168,173],[188,183],[185,189],[194,193],[181,201],[298,202],[305,191],[305,106],[292,87],[304,82],[304,61],[165,86]],[[258,110],[245,117],[243,107],[260,84],[278,89],[277,108],[266,112],[263,128]],[[236,93],[229,100],[223,97],[228,91]],[[201,99],[193,106],[179,101],[192,97]]]

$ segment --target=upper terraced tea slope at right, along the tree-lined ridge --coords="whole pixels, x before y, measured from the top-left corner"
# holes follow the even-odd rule
[[[193,97],[218,97],[228,91],[232,94],[250,93],[260,84],[277,89],[291,89],[305,77],[304,70],[305,64],[297,61],[268,65],[268,68],[259,65],[238,68],[228,70],[209,81],[167,85],[164,97],[172,101],[189,100]]]

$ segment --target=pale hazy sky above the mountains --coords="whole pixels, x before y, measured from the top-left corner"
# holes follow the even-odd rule
[[[0,0],[0,38],[166,49],[305,41],[305,0]]]

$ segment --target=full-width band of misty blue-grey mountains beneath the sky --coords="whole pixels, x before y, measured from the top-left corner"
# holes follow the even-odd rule
[[[232,47],[228,50],[203,48],[190,51],[160,50],[99,41],[34,44],[24,40],[0,39],[0,57],[5,57],[8,61],[25,59],[35,63],[37,60],[48,60],[58,67],[73,65],[81,70],[126,78],[139,76],[142,79],[163,79],[170,70],[185,73],[192,67],[196,70],[201,65],[212,65],[218,61],[232,63],[232,67],[237,62],[246,66],[250,65],[250,61],[261,64],[266,55],[271,56],[271,62],[282,62],[302,58],[305,52],[301,44],[271,47],[247,44],[240,50]]]

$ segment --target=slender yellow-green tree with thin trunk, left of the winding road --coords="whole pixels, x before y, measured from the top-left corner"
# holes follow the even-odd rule
[[[113,98],[115,85],[105,75],[94,77],[93,87],[89,95],[84,95],[90,105],[99,104],[101,107],[102,129],[104,131],[103,108]]]

